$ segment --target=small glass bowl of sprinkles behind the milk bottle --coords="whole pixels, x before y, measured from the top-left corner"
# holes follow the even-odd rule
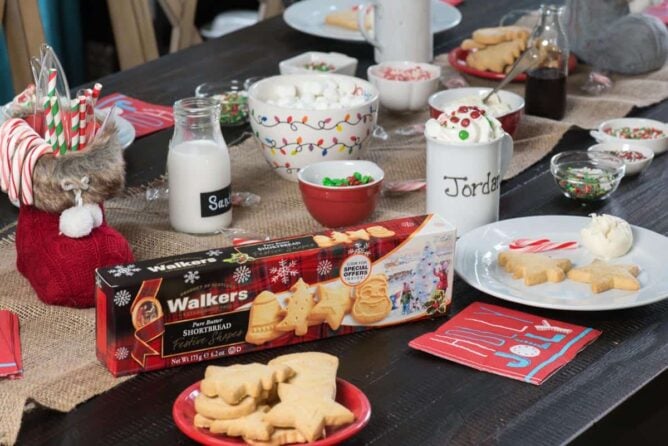
[[[195,89],[198,98],[212,97],[220,102],[220,125],[235,127],[248,122],[248,94],[244,82],[206,82]]]

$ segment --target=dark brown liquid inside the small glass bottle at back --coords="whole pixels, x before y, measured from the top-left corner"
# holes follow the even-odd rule
[[[525,110],[530,115],[559,120],[566,112],[566,75],[556,68],[527,73]]]

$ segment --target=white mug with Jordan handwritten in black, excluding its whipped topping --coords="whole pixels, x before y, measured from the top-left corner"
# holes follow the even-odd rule
[[[501,180],[513,156],[507,133],[490,142],[427,138],[427,212],[450,221],[462,235],[499,219]]]

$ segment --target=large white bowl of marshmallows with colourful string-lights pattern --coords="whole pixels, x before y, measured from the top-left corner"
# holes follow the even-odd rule
[[[378,90],[339,74],[291,74],[248,90],[250,123],[267,163],[297,181],[302,167],[363,156],[378,117]]]

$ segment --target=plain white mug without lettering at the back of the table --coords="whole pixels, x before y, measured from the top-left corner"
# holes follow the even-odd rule
[[[373,36],[365,26],[367,10],[372,6]],[[357,23],[364,38],[375,47],[376,62],[431,62],[434,58],[431,0],[373,0],[360,5]]]

